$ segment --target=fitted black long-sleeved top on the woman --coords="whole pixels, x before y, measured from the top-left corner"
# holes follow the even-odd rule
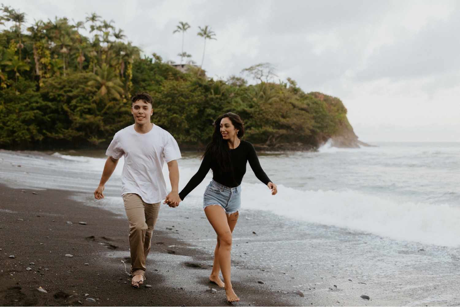
[[[236,187],[241,185],[243,180],[244,174],[246,174],[246,164],[249,161],[249,165],[253,169],[254,174],[256,177],[262,181],[264,184],[268,184],[271,180],[268,178],[267,174],[265,174],[264,170],[260,166],[259,158],[257,157],[257,153],[254,149],[254,146],[247,142],[241,141],[240,145],[235,149],[230,149],[231,155],[231,162],[233,166],[233,171],[235,172],[235,181],[238,183],[235,186],[232,186],[232,183],[229,181],[229,178],[225,177],[218,177],[216,174],[213,173],[213,180],[219,182],[221,185],[228,186],[230,188]],[[184,198],[196,188],[197,185],[203,181],[209,169],[214,168],[214,163],[210,156],[206,155],[201,162],[200,168],[192,178],[190,178],[189,183],[185,185],[184,189],[180,191],[179,197],[180,199],[184,200]]]

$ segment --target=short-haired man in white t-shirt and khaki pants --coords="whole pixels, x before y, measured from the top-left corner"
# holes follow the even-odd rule
[[[132,285],[136,288],[144,281],[145,260],[150,251],[150,240],[161,200],[170,207],[178,206],[179,147],[173,136],[150,122],[153,114],[152,97],[136,93],[131,98],[134,125],[115,133],[107,149],[109,156],[98,188],[96,199],[104,198],[102,192],[115,170],[118,159],[125,158],[121,173],[121,194],[129,220],[129,247],[131,249]],[[166,183],[161,169],[166,161],[171,180],[171,192],[166,195]]]

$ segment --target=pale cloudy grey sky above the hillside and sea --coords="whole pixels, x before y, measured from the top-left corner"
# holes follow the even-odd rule
[[[270,63],[275,81],[338,97],[364,142],[460,142],[460,1],[4,0],[27,23],[96,12],[143,54],[180,62],[184,51],[227,79]],[[89,28],[89,26],[87,27]]]

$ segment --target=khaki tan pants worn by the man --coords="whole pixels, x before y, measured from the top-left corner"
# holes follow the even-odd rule
[[[131,274],[144,275],[145,260],[149,255],[150,240],[160,211],[160,203],[145,203],[137,194],[124,194],[123,202],[129,220]]]

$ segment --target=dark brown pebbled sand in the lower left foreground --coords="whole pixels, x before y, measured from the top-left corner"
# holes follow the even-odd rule
[[[151,287],[132,288],[121,262],[129,255],[126,217],[69,200],[71,194],[0,184],[1,306],[229,305],[224,290],[208,281],[212,253],[190,246],[178,232],[167,230],[161,220],[154,230],[144,282]],[[80,221],[87,224],[80,225]],[[206,223],[197,215],[179,224],[182,228],[202,228]],[[259,284],[254,276],[254,271],[259,271],[256,268],[233,265],[234,289],[242,299],[235,305],[317,305],[293,292],[274,290],[274,277],[270,280],[265,276],[265,284]],[[37,290],[39,287],[47,293]],[[211,288],[217,293],[211,293]],[[89,295],[85,297],[86,293]]]

